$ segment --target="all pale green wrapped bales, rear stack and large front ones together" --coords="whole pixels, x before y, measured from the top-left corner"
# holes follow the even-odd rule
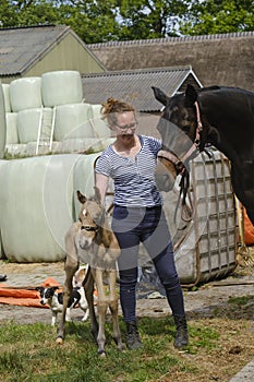
[[[100,106],[83,102],[78,72],[49,72],[2,88],[3,147],[15,160],[0,160],[0,258],[62,260],[64,235],[80,208],[76,190],[94,193],[94,163],[111,142],[110,130]],[[49,142],[53,129],[53,141],[36,156],[41,115],[44,134]],[[94,154],[77,154],[88,148]]]

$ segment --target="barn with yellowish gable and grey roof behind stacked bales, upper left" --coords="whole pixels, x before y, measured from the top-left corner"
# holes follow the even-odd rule
[[[65,25],[0,28],[0,81],[49,71],[104,72],[106,68]]]

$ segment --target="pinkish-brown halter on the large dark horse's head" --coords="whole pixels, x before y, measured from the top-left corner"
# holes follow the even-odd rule
[[[201,132],[203,131],[203,124],[202,124],[202,120],[201,120],[201,112],[199,112],[199,107],[197,102],[195,102],[194,104],[195,108],[196,108],[196,136],[195,140],[192,144],[192,146],[189,148],[189,151],[186,152],[186,154],[184,154],[184,156],[182,158],[179,158],[179,156],[177,154],[174,154],[172,151],[170,150],[160,150],[158,152],[158,157],[160,158],[166,158],[169,162],[171,162],[176,169],[177,169],[177,174],[179,175],[183,175],[185,172],[185,166],[184,163],[195,153],[197,152],[199,145],[201,145]]]

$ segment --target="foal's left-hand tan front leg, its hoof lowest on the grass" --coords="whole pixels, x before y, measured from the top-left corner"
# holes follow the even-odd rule
[[[99,332],[97,336],[97,344],[98,344],[98,354],[100,356],[105,356],[105,342],[106,342],[106,335],[105,335],[105,315],[108,308],[107,298],[104,290],[104,279],[102,279],[102,270],[95,270],[95,283],[98,291],[98,300],[97,300],[97,312],[98,312],[98,320],[99,320]]]

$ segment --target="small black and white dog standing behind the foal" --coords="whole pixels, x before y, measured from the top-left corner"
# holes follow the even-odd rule
[[[37,287],[36,290],[40,294],[40,303],[45,306],[49,305],[52,312],[51,326],[55,326],[58,313],[62,312],[63,294],[57,293],[58,286],[53,287]],[[66,309],[66,321],[71,321],[71,309],[80,307],[84,312],[82,321],[86,321],[89,317],[88,305],[85,297],[85,290],[83,287],[73,288],[71,297],[69,299]]]

